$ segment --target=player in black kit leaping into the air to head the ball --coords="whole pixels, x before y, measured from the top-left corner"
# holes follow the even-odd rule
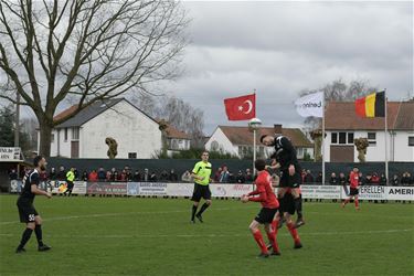
[[[261,142],[267,147],[275,147],[275,152],[272,155],[272,166],[266,166],[270,169],[280,169],[280,185],[278,190],[278,199],[283,199],[287,189],[290,188],[294,197],[295,210],[298,215],[295,227],[300,227],[305,224],[301,212],[301,168],[296,156],[296,150],[290,140],[282,135],[272,137],[264,135],[261,137]]]

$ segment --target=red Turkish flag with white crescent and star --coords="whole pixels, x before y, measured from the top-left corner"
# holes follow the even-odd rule
[[[256,117],[256,94],[224,99],[229,120],[248,120]]]

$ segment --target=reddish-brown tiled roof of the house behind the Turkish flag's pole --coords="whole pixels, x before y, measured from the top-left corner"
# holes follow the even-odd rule
[[[252,145],[253,134],[248,127],[219,126],[233,145]],[[273,127],[261,127],[257,131],[257,142],[263,135],[275,135]],[[306,138],[305,134],[298,128],[282,128],[282,135],[288,137],[295,147],[312,148],[314,144]]]

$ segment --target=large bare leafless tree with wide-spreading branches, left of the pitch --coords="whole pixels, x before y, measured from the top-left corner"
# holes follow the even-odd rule
[[[49,156],[52,128],[83,108],[177,77],[187,24],[173,0],[0,0],[0,97],[33,109]],[[54,121],[67,99],[76,112]]]

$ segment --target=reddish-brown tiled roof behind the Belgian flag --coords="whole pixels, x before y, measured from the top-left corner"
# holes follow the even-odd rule
[[[388,128],[414,129],[414,102],[388,102]],[[355,114],[353,102],[329,102],[325,113],[327,130],[384,129],[384,118],[361,118]]]

